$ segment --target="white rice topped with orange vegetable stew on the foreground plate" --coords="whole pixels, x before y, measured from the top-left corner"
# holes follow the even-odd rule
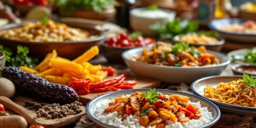
[[[154,102],[151,102],[150,94],[154,94]],[[213,117],[207,107],[202,108],[199,101],[190,102],[188,99],[182,95],[152,93],[152,90],[149,93],[136,92],[126,97],[115,98],[109,105],[104,104],[97,108],[94,114],[101,122],[120,128],[197,128],[210,123]],[[140,104],[138,109],[134,109],[133,102]],[[113,107],[115,103],[119,104]],[[143,120],[144,117],[148,120]],[[154,120],[160,121],[152,123]]]

